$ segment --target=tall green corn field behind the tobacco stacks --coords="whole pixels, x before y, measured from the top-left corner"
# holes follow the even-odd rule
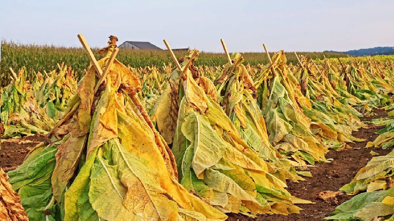
[[[92,49],[96,52],[97,48]],[[187,52],[175,51],[177,57],[183,57]],[[323,59],[323,55],[329,57],[347,57],[339,53],[322,53],[322,52],[298,52],[299,55],[307,55],[312,59]],[[271,53],[271,56],[273,53]],[[297,63],[294,53],[286,53],[288,63]],[[98,55],[99,57],[99,55]],[[245,53],[244,58],[251,65],[267,64],[268,59],[265,53]],[[123,49],[119,52],[117,59],[126,66],[134,68],[146,66],[163,66],[163,64],[172,63],[171,56],[167,51],[152,50],[131,50]],[[33,72],[44,70],[54,70],[57,63],[64,62],[71,66],[75,71],[76,78],[80,79],[84,75],[84,70],[89,65],[89,59],[85,56],[82,48],[65,48],[58,46],[39,46],[39,45],[22,45],[14,42],[1,42],[1,61],[0,61],[0,79],[1,87],[5,87],[9,81],[11,73],[8,68],[19,70],[22,66],[28,73],[26,79],[33,77]],[[218,66],[227,63],[223,53],[201,52],[200,58],[196,65]]]

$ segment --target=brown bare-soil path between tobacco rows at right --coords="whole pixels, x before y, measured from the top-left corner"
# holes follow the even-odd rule
[[[372,118],[385,117],[384,110],[375,110],[377,116],[362,118],[362,121],[369,121]],[[325,203],[320,199],[316,199],[315,195],[325,190],[338,191],[344,184],[349,183],[356,173],[364,167],[373,157],[370,151],[373,150],[379,155],[386,155],[392,149],[368,148],[365,145],[368,141],[373,141],[377,137],[375,132],[383,127],[375,127],[368,125],[368,128],[362,128],[353,132],[353,136],[364,138],[367,141],[349,144],[353,148],[348,151],[330,151],[326,158],[333,158],[331,163],[316,164],[316,167],[310,168],[313,177],[306,177],[306,181],[299,183],[291,182],[288,184],[287,190],[294,196],[310,200],[316,204],[298,204],[303,208],[300,214],[283,215],[259,215],[255,219],[239,214],[229,214],[229,221],[316,221],[328,216],[335,210],[335,207],[351,199],[352,196],[338,196],[338,203]],[[358,149],[360,148],[360,149]]]

